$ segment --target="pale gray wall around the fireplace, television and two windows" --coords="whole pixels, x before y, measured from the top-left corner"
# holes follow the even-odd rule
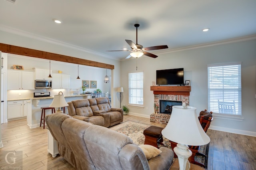
[[[154,53],[154,51],[152,51]],[[184,68],[184,79],[191,80],[190,106],[197,113],[208,109],[207,64],[242,62],[242,118],[243,121],[214,118],[210,128],[256,136],[256,40],[233,42],[209,47],[188,49],[157,58],[140,57],[138,70],[144,71],[144,109],[130,108],[130,113],[149,117],[153,113],[154,95],[150,91],[156,81],[156,70]],[[122,105],[128,104],[128,72],[136,71],[136,59],[121,63],[121,85],[124,87]]]

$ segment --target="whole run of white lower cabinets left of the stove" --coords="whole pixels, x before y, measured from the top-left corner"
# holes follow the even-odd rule
[[[27,116],[27,112],[32,109],[28,107],[27,102],[31,100],[8,101],[7,103],[7,119],[23,118]]]

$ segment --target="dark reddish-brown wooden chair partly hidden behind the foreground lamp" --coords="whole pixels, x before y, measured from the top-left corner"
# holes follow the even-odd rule
[[[210,123],[213,120],[212,112],[208,112],[206,110],[201,111],[198,119],[199,119],[199,122],[200,122],[202,128],[204,129],[204,132],[207,132],[207,130],[208,130],[209,126],[210,126]],[[170,141],[170,143],[171,143],[171,147],[172,147],[172,150],[173,150],[173,148],[176,147],[177,143],[176,142],[172,142],[172,141]],[[199,165],[199,166],[202,166],[202,167],[205,168],[204,164],[195,161],[195,156],[196,155],[200,155],[200,156],[206,157],[204,154],[199,152],[200,146],[188,146],[188,147],[192,151],[192,156],[190,156],[188,158],[189,162],[192,163],[192,164],[196,164],[196,165]],[[177,155],[175,153],[174,153],[174,157],[177,158]]]

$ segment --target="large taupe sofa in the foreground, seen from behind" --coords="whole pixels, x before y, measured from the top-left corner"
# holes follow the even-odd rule
[[[158,156],[146,159],[142,149],[119,132],[73,119],[63,113],[45,117],[59,154],[78,170],[168,170],[172,150],[161,147]]]

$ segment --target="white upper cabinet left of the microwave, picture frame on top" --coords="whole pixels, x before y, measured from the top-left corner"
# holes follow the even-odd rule
[[[7,90],[34,90],[34,72],[8,70],[7,84]]]

